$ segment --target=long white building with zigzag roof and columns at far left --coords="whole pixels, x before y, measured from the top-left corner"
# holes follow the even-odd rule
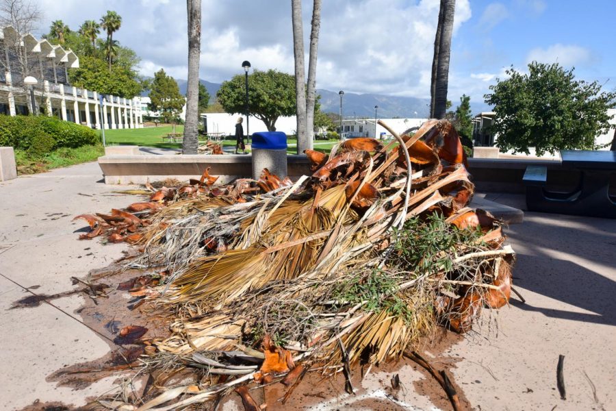
[[[143,127],[141,112],[133,99],[103,95],[101,110],[99,93],[68,84],[68,69],[79,67],[79,58],[73,51],[47,40],[39,41],[31,34],[18,38],[11,26],[0,29],[0,50],[1,114],[15,116],[32,110],[30,90],[24,84],[23,68],[27,67],[27,74],[38,81],[34,86],[37,112],[93,128]]]

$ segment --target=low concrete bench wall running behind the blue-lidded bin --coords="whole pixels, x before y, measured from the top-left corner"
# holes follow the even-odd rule
[[[219,175],[221,184],[253,175],[251,155],[105,155],[99,165],[105,184],[144,184],[166,178],[185,181],[198,178],[207,167],[211,175]],[[287,156],[289,177],[310,173],[305,155]]]

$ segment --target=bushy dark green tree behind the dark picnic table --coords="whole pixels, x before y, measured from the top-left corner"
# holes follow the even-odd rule
[[[615,92],[602,92],[598,82],[577,80],[574,69],[532,62],[528,74],[513,69],[509,79],[496,79],[485,102],[493,106],[500,149],[537,155],[563,149],[595,149],[595,138],[606,132],[608,108],[616,106]]]

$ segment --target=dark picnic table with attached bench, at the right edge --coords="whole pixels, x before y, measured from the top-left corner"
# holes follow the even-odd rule
[[[580,173],[580,182],[573,191],[548,191],[546,167],[526,168],[528,210],[616,219],[616,198],[609,192],[616,174],[616,151],[562,150],[561,166]]]

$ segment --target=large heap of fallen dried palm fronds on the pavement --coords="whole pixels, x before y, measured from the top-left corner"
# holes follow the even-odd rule
[[[435,325],[465,332],[481,308],[507,303],[513,251],[496,219],[466,208],[474,186],[453,127],[390,132],[385,147],[359,138],[308,151],[313,175],[294,184],[264,171],[256,187],[214,196],[202,177],[196,195],[149,216],[130,264],[167,271],[148,298],[175,319],[144,369],[160,382],[161,370],[195,373],[153,384],[170,389],[140,410],[249,383],[293,387],[311,369],[343,372],[352,390],[353,364],[395,360]]]

